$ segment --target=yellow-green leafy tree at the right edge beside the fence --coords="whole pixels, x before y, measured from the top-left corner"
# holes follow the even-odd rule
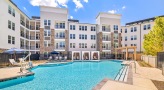
[[[146,55],[157,55],[157,52],[163,50],[164,43],[164,17],[157,17],[155,19],[154,27],[145,35],[143,47]]]

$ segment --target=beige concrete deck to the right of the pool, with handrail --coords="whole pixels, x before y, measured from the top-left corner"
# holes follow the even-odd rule
[[[157,68],[140,67],[136,62],[136,73],[132,64],[133,84],[108,80],[100,90],[158,90],[151,80],[164,81],[162,71]]]

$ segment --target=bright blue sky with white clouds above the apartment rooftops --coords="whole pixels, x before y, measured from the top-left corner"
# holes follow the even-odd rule
[[[121,24],[164,15],[164,0],[12,0],[29,17],[40,16],[39,5],[68,8],[70,19],[96,23],[99,12],[121,14]]]

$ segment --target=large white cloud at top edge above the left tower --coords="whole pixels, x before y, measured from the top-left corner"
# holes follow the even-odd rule
[[[51,7],[59,7],[64,6],[67,7],[68,0],[30,0],[31,5],[33,6],[51,6]]]

